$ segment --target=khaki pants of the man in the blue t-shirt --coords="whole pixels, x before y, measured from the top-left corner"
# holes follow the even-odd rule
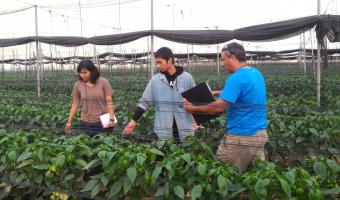
[[[266,130],[259,130],[251,136],[226,134],[218,146],[216,155],[222,162],[233,164],[243,171],[255,157],[265,160],[264,145],[267,141]]]

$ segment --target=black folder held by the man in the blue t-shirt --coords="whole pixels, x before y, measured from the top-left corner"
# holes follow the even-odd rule
[[[193,105],[206,105],[208,103],[215,101],[215,97],[211,93],[211,89],[206,81],[196,85],[195,87],[189,90],[184,91],[182,93],[182,96]],[[221,114],[222,113],[216,114],[193,113],[192,116],[194,117],[197,125],[201,125],[202,123],[214,119],[220,116]]]

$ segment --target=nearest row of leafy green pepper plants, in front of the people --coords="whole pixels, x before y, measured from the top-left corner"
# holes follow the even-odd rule
[[[0,155],[0,175],[12,183],[0,184],[2,199],[47,199],[56,196],[54,189],[68,194],[64,198],[77,198],[68,192],[79,191],[91,197],[130,199],[340,197],[340,165],[334,160],[310,157],[292,168],[255,161],[239,172],[216,160],[209,144],[195,138],[176,145],[3,131]],[[49,192],[42,192],[44,187]]]

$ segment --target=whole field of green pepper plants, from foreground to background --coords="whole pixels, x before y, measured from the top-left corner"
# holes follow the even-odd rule
[[[208,80],[212,89],[223,87],[224,77],[211,78],[203,72],[199,76],[193,73],[196,83]],[[0,132],[3,132],[0,177],[12,183],[0,184],[2,198],[11,199],[18,194],[22,199],[54,198],[57,193],[51,192],[58,188],[105,198],[339,198],[339,76],[322,78],[321,107],[315,100],[313,77],[267,76],[270,138],[266,149],[272,163],[257,161],[241,173],[213,156],[225,132],[225,116],[204,124],[204,129],[196,131],[196,139],[180,146],[164,141],[141,144],[134,138],[103,136],[89,140],[85,136],[66,138],[47,134],[63,134],[71,104],[70,93],[76,79],[72,73],[62,73],[59,81],[53,76],[48,79],[49,74],[45,74],[39,100],[34,97],[34,79],[22,82],[13,74],[14,84],[0,86]],[[148,77],[128,74],[107,77],[113,86],[119,119],[114,133],[119,134],[131,119]],[[145,138],[152,133],[153,118],[153,111],[144,114],[135,135]],[[77,116],[75,129],[78,120]],[[39,131],[27,132],[34,128]],[[16,133],[18,129],[25,132]],[[106,153],[99,155],[103,151]],[[109,158],[104,162],[106,156]],[[13,183],[52,190],[29,189]]]

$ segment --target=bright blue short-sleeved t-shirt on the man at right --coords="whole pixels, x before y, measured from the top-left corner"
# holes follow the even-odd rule
[[[242,67],[228,77],[220,99],[229,103],[227,132],[253,135],[267,128],[266,84],[259,70]]]

